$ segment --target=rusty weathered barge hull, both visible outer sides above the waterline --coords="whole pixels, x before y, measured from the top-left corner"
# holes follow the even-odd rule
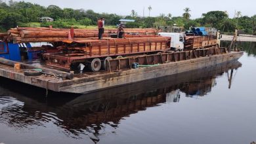
[[[229,52],[227,54],[217,54],[191,60],[182,60],[181,62],[165,63],[155,67],[144,67],[127,71],[75,77],[73,80],[60,80],[54,77],[44,76],[28,77],[24,75],[23,71],[18,71],[13,67],[0,64],[0,77],[6,77],[7,79],[12,79],[14,81],[53,90],[54,92],[86,94],[96,90],[156,79],[158,77],[236,61],[243,54],[244,52]]]

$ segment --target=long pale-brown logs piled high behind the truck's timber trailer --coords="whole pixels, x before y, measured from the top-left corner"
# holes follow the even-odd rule
[[[5,35],[5,39],[2,38],[2,40],[13,41],[14,43],[64,41],[68,39],[69,33],[70,29],[16,27],[9,29],[7,33],[3,34]],[[112,33],[117,33],[117,29],[106,29],[102,36],[110,37],[110,34]],[[125,33],[136,33],[137,35],[156,35],[158,31],[156,29],[125,29]],[[83,39],[88,37],[98,37],[98,29],[74,29],[74,39]],[[134,35],[130,37],[136,36]]]

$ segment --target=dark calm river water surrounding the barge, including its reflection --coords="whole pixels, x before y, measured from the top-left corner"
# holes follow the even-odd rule
[[[227,43],[223,43],[227,45]],[[251,143],[256,43],[239,62],[73,96],[0,79],[0,143]]]

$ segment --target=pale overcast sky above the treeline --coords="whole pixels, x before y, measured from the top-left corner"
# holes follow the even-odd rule
[[[14,0],[19,1],[19,0]],[[235,11],[241,11],[242,16],[253,16],[256,14],[255,0],[24,0],[30,3],[37,3],[45,7],[57,5],[63,8],[72,9],[91,9],[95,12],[116,13],[119,15],[130,15],[131,10],[135,10],[139,16],[148,16],[148,7],[152,10],[150,16],[159,16],[160,14],[169,14],[172,16],[181,16],[185,7],[191,9],[191,18],[200,18],[203,13],[211,10],[226,10],[230,18],[234,17]]]

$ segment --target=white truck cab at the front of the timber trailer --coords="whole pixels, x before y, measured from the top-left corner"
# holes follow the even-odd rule
[[[171,50],[183,51],[184,49],[184,33],[158,33],[163,37],[171,37]]]

